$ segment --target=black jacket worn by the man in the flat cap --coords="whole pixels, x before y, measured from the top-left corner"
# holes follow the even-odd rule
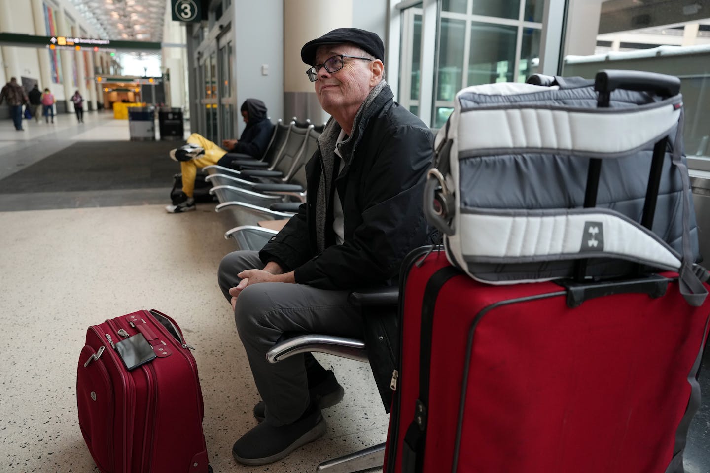
[[[404,257],[427,243],[422,200],[432,162],[432,133],[419,118],[393,101],[386,85],[359,111],[352,136],[342,143],[344,168],[335,180],[344,214],[345,241],[319,252],[317,226],[324,226],[327,243],[334,242],[334,193],[330,192],[327,211],[316,208],[315,196],[324,161],[332,158],[340,129],[333,119],[327,124],[317,152],[306,165],[307,202],[259,256],[265,264],[275,261],[285,271],[295,270],[298,284],[322,289],[396,284]],[[322,215],[327,218],[318,217]],[[398,354],[396,325],[395,311],[373,320],[364,318],[368,356],[386,408]]]

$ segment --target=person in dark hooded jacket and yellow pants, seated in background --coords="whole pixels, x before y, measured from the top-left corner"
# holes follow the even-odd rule
[[[260,158],[273,133],[273,123],[266,116],[266,105],[259,99],[246,99],[241,104],[241,116],[246,128],[239,140],[222,140],[222,148],[204,136],[192,133],[187,145],[170,151],[170,158],[180,162],[182,172],[182,192],[175,196],[173,204],[166,206],[168,213],[182,213],[195,210],[195,177],[197,168],[209,165],[226,165],[228,152],[239,152]],[[231,162],[231,160],[229,160]]]

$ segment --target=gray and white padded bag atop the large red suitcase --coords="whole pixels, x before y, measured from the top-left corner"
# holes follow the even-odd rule
[[[425,191],[449,261],[489,284],[670,270],[701,304],[679,87],[601,71],[459,91]]]

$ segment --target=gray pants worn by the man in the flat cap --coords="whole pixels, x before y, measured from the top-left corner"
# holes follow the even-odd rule
[[[236,275],[261,269],[256,251],[235,251],[219,264],[219,287],[229,301],[229,289],[239,284]],[[310,403],[303,355],[271,364],[266,352],[284,333],[320,333],[362,338],[359,308],[348,302],[350,291],[329,291],[304,284],[265,282],[246,286],[236,298],[234,321],[251,365],[266,421],[273,425],[296,421]]]

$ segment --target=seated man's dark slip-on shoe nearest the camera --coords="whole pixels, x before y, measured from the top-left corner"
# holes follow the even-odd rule
[[[241,464],[260,465],[281,460],[298,447],[320,438],[326,424],[315,404],[294,423],[271,425],[263,422],[249,430],[231,447],[231,455]]]

